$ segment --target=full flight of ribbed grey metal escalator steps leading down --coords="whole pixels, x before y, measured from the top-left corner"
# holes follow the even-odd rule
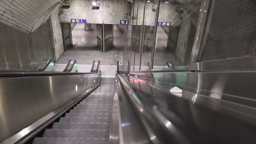
[[[102,78],[101,86],[46,129],[34,144],[108,143],[114,79]]]

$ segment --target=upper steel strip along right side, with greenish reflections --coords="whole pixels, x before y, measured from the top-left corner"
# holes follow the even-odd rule
[[[253,71],[234,72],[164,72],[130,73],[144,80],[170,87],[178,86],[197,94],[222,95],[221,100],[255,107],[255,73]],[[243,84],[242,84],[243,83]],[[235,88],[239,87],[239,88]]]

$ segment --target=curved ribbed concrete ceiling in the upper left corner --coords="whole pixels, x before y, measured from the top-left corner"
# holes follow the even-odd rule
[[[59,0],[0,0],[0,22],[31,33],[40,23],[45,22],[49,15],[46,13],[56,7]]]

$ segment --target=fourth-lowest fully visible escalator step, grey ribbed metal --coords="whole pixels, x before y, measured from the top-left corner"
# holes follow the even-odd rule
[[[109,113],[66,113],[65,117],[96,117],[108,118]]]

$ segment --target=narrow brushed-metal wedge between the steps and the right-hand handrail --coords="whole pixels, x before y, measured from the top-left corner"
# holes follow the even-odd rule
[[[119,79],[115,82],[109,133],[109,144],[151,143]]]

